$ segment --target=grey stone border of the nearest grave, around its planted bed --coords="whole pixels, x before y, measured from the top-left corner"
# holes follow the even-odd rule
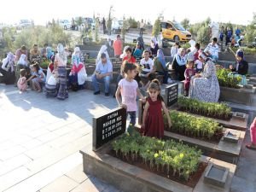
[[[109,149],[110,147],[107,145],[97,152],[92,151],[91,148],[80,150],[80,153],[83,155],[84,172],[102,179],[124,192],[228,192],[236,172],[236,165],[201,156],[201,161],[208,163],[208,166],[193,189],[114,158],[107,154]],[[205,182],[207,170],[211,170],[212,165],[229,170],[224,184],[222,183],[217,186],[215,183]],[[212,172],[208,172],[208,175],[209,173],[211,176]]]

